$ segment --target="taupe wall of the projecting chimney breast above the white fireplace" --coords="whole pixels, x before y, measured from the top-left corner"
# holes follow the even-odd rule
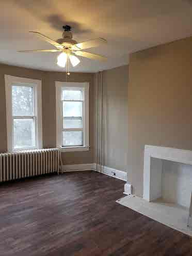
[[[192,38],[132,54],[129,70],[129,181],[141,196],[145,145],[192,150]]]

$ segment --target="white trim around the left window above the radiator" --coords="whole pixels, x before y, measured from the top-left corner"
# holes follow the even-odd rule
[[[13,149],[13,129],[12,129],[12,84],[25,85],[29,84],[35,88],[36,93],[36,147],[29,149],[42,149],[42,98],[41,98],[41,80],[29,79],[24,77],[17,77],[11,75],[5,75],[5,92],[6,92],[6,116],[7,116],[7,150],[22,151],[28,150],[28,148]]]

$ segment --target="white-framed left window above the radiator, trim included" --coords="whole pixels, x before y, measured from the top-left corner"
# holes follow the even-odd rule
[[[42,148],[41,81],[5,75],[8,151]]]

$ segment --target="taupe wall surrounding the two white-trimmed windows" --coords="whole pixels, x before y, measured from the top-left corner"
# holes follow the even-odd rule
[[[0,65],[0,152],[7,150],[6,132],[6,102],[5,102],[5,79],[4,75],[13,75],[42,80],[42,124],[43,124],[43,147],[56,146],[56,114],[55,114],[55,81],[66,81],[65,72],[44,72],[33,69]],[[63,153],[63,164],[93,163],[94,161],[94,83],[93,73],[71,73],[68,81],[89,82],[89,130],[90,150],[84,152]]]

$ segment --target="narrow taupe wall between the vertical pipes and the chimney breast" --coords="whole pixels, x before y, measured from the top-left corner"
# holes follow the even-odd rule
[[[104,165],[127,170],[128,66],[103,72]]]

